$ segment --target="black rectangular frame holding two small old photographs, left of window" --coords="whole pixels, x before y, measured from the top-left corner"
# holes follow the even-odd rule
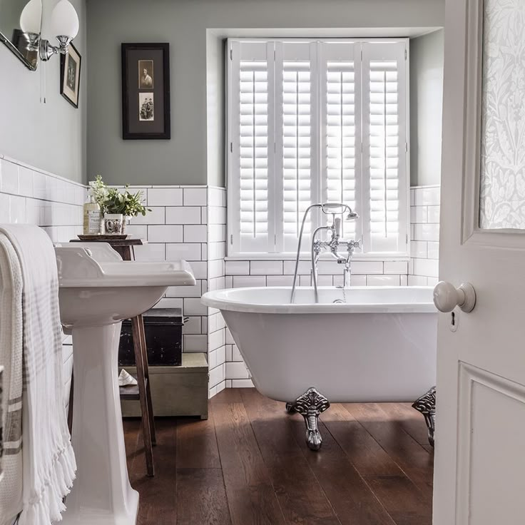
[[[171,138],[169,44],[122,44],[122,138]]]

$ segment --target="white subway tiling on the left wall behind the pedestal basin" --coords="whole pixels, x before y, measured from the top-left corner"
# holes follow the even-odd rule
[[[53,243],[67,242],[82,233],[82,205],[86,186],[58,177],[0,154],[0,224],[35,224]],[[69,403],[73,347],[63,336],[64,406]]]

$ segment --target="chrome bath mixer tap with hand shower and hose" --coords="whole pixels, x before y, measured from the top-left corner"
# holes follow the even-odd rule
[[[307,214],[310,213],[310,210],[312,210],[312,208],[321,208],[322,212],[325,213],[326,215],[329,215],[329,214],[332,215],[331,225],[320,226],[319,228],[316,228],[314,232],[312,233],[312,245],[311,245],[311,250],[310,250],[310,256],[312,260],[312,269],[310,273],[310,285],[313,285],[314,290],[315,290],[315,302],[318,302],[319,300],[319,294],[317,292],[317,263],[319,261],[322,251],[326,250],[327,252],[330,253],[330,255],[332,255],[333,258],[335,258],[335,260],[337,260],[338,264],[345,265],[344,270],[343,270],[343,286],[342,286],[345,288],[345,287],[350,286],[350,271],[351,271],[352,256],[354,255],[355,249],[360,248],[359,240],[341,240],[342,220],[340,217],[336,217],[335,215],[343,214],[347,211],[348,212],[347,220],[355,220],[359,218],[359,215],[357,215],[355,211],[352,211],[352,208],[350,208],[349,205],[343,204],[343,203],[324,203],[324,204],[310,205],[305,211],[304,217],[302,218],[302,225],[301,225],[301,230],[299,234],[299,243],[297,245],[297,258],[295,260],[295,274],[294,274],[294,279],[293,279],[292,295],[290,297],[290,302],[293,302],[295,298],[295,288],[297,284],[297,270],[299,267],[302,231],[305,226]],[[328,232],[327,240],[317,239],[317,234],[320,233],[320,231],[322,230],[325,230]],[[339,249],[342,246],[347,248],[346,256],[340,255],[339,253]]]

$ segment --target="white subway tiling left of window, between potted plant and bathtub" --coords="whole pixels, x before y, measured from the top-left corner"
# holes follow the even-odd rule
[[[195,287],[170,287],[156,307],[180,307],[188,318],[184,352],[208,352],[210,397],[226,387],[225,323],[200,296],[225,287],[226,192],[207,186],[131,186],[143,190],[153,210],[131,219],[128,231],[148,240],[135,249],[138,260],[187,260]]]

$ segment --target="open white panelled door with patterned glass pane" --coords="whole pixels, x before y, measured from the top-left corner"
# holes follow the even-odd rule
[[[434,525],[525,523],[524,30],[525,0],[447,0],[439,275],[476,305],[439,319]]]

